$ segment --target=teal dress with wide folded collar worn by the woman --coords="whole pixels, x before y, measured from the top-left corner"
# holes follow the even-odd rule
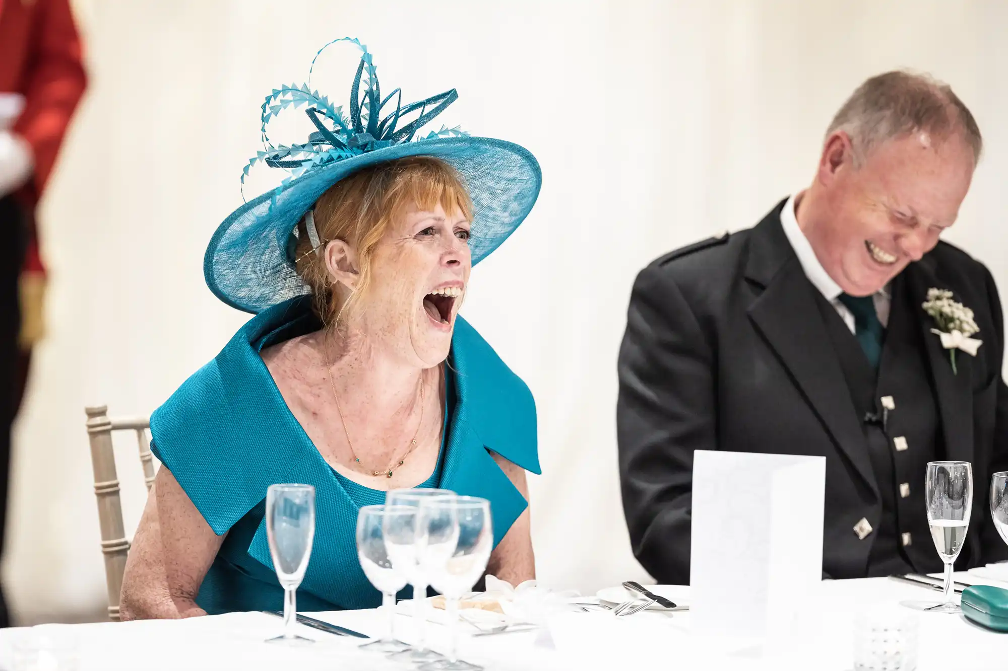
[[[266,488],[316,487],[316,536],[297,591],[298,610],[380,605],[357,559],[361,506],[384,492],[337,474],[290,413],[259,352],[320,327],[310,297],[250,319],[150,418],[151,449],[218,535],[227,534],[197,603],[210,614],[276,611],[283,592],[273,572],[264,520]],[[539,473],[535,404],[525,384],[462,317],[446,366],[446,430],[437,465],[422,486],[491,503],[494,545],[527,503],[491,451]]]

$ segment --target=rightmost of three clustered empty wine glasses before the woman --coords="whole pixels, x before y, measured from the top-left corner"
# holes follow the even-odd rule
[[[483,667],[458,656],[459,599],[483,575],[494,549],[490,502],[475,497],[431,499],[420,506],[420,514],[427,526],[427,542],[420,550],[420,563],[430,577],[431,586],[445,595],[449,624],[448,655],[423,664],[420,669],[482,671]]]

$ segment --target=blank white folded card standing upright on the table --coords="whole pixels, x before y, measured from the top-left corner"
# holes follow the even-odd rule
[[[823,576],[826,457],[694,453],[695,634],[759,640],[806,631]]]

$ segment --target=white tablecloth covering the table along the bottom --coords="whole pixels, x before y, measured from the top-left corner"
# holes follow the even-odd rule
[[[850,671],[853,668],[853,626],[859,613],[877,605],[934,600],[936,591],[886,578],[836,580],[822,583],[810,599],[814,634],[792,642],[791,661],[768,661],[757,652],[732,649],[719,642],[699,641],[689,633],[689,614],[644,612],[615,619],[608,613],[566,614],[550,628],[531,633],[461,638],[464,659],[488,671],[556,671],[623,668],[763,669]],[[1005,671],[1008,635],[973,626],[962,616],[917,613],[920,622],[919,671]],[[377,611],[317,614],[321,620],[377,635],[385,626]],[[398,617],[400,636],[411,640],[411,624]],[[444,627],[428,626],[434,649],[447,641]],[[282,648],[263,643],[281,629],[279,619],[259,613],[180,621],[41,625],[0,631],[0,668],[9,666],[13,646],[25,637],[71,640],[80,671],[145,669],[375,669],[415,668],[381,655],[358,650],[360,639],[336,637],[300,628],[317,640],[308,648]]]

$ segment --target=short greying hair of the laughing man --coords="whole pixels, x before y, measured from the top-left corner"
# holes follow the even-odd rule
[[[984,139],[970,109],[952,87],[907,71],[877,75],[857,88],[837,112],[827,137],[846,131],[860,165],[872,149],[910,133],[927,133],[935,142],[958,137],[980,160]]]

